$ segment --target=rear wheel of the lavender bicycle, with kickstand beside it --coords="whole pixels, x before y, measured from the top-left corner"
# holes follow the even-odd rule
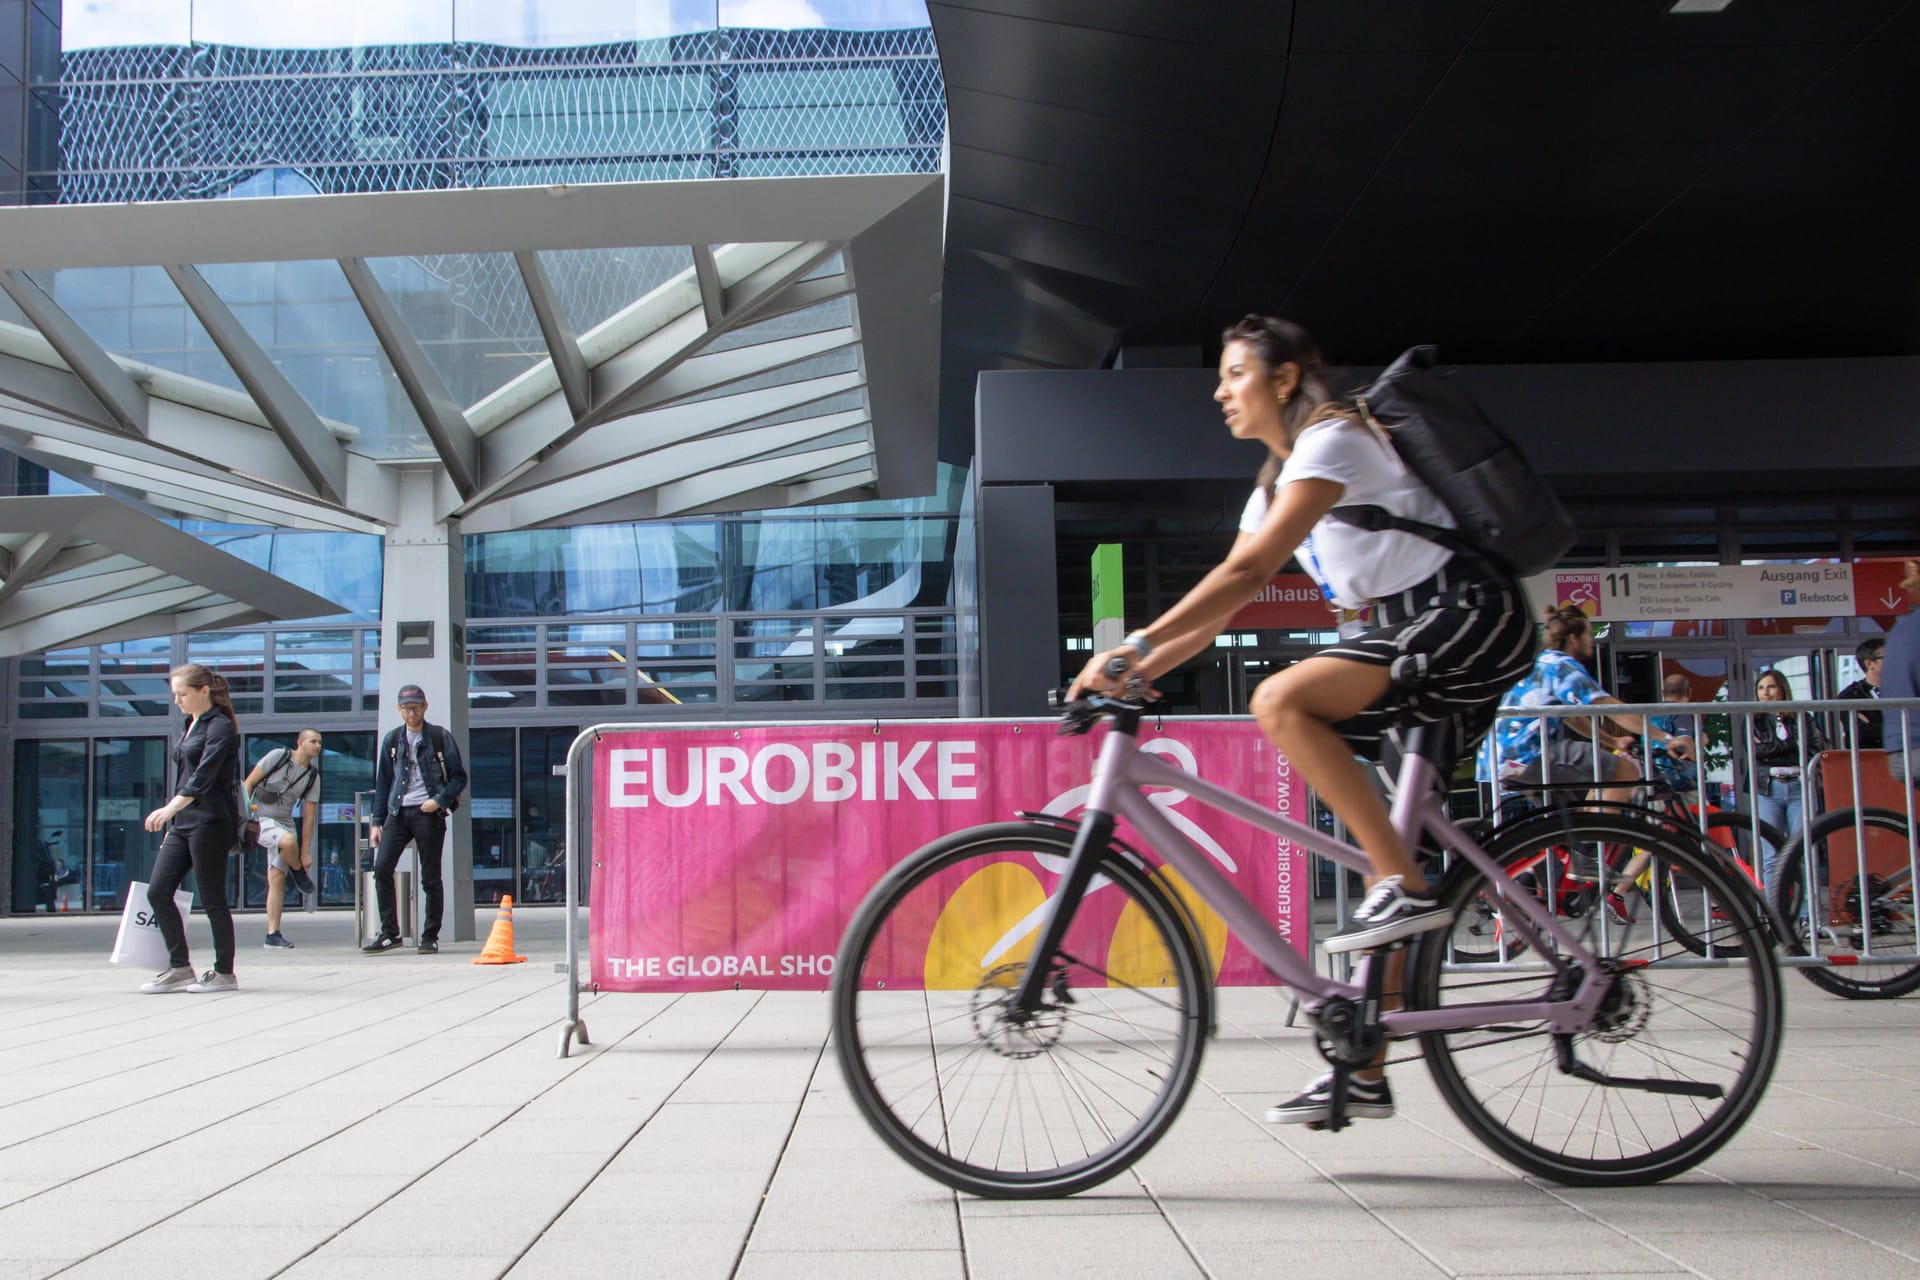
[[[1513,1165],[1572,1186],[1640,1186],[1707,1159],[1759,1105],[1780,1055],[1782,983],[1759,906],[1695,842],[1632,816],[1572,812],[1517,823],[1488,854],[1507,865],[1548,844],[1609,842],[1649,850],[1655,873],[1695,879],[1724,908],[1715,935],[1747,948],[1749,960],[1697,960],[1665,931],[1657,898],[1645,919],[1619,925],[1596,896],[1563,923],[1615,969],[1615,986],[1596,1023],[1565,1040],[1574,1061],[1605,1080],[1561,1071],[1563,1038],[1544,1021],[1421,1036],[1440,1096],[1475,1136]],[[1471,906],[1484,879],[1463,864],[1442,887],[1446,910]],[[1415,950],[1409,1007],[1565,998],[1557,950],[1553,965],[1536,948],[1536,963],[1509,973],[1452,969],[1444,952],[1425,942]],[[1718,1098],[1644,1088],[1649,1080],[1715,1088]]]

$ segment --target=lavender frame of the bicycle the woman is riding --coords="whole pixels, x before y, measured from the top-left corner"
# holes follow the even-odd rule
[[[1459,827],[1448,821],[1434,796],[1438,771],[1432,762],[1407,754],[1400,766],[1400,781],[1394,791],[1392,819],[1394,829],[1407,848],[1419,844],[1419,837],[1432,833],[1444,841],[1444,848],[1467,858],[1486,873],[1515,913],[1524,915],[1532,927],[1548,933],[1578,960],[1584,977],[1571,1000],[1524,1000],[1524,1002],[1486,1002],[1461,1004],[1448,1009],[1396,1009],[1380,1013],[1380,1027],[1390,1036],[1409,1038],[1434,1031],[1467,1031],[1488,1023],[1544,1021],[1553,1032],[1572,1034],[1592,1025],[1601,998],[1607,992],[1607,975],[1599,958],[1584,948],[1561,921],[1546,910],[1532,894],[1521,890],[1505,871]],[[1286,938],[1267,923],[1260,910],[1248,902],[1233,883],[1221,875],[1213,860],[1192,841],[1181,835],[1167,821],[1160,808],[1142,793],[1142,787],[1175,787],[1194,796],[1208,808],[1229,814],[1244,823],[1284,837],[1304,848],[1313,850],[1344,867],[1367,873],[1371,864],[1367,854],[1354,844],[1334,841],[1319,831],[1296,823],[1288,818],[1260,808],[1252,800],[1194,773],[1187,773],[1158,756],[1140,750],[1135,737],[1123,729],[1110,729],[1100,743],[1100,756],[1094,764],[1092,785],[1087,794],[1087,814],[1114,814],[1133,823],[1144,837],[1146,848],[1167,860],[1187,883],[1227,921],[1254,956],[1286,986],[1300,994],[1309,1013],[1332,998],[1359,1000],[1365,994],[1367,965],[1371,954],[1363,954],[1354,983],[1340,983],[1315,973]],[[1058,900],[1056,900],[1058,902]],[[1044,936],[1043,923],[1041,935]]]

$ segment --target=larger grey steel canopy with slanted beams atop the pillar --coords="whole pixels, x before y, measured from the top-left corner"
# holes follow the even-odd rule
[[[0,441],[159,510],[309,530],[386,532],[422,468],[465,533],[912,497],[943,221],[941,175],[0,209]],[[553,255],[645,246],[689,263],[578,326]],[[511,255],[543,357],[459,403],[374,271],[424,255]],[[419,430],[323,416],[209,282],[232,263],[336,265]],[[46,280],[98,267],[161,269],[230,380],[90,334]]]

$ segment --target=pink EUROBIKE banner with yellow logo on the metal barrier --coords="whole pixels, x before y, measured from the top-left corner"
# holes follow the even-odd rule
[[[591,983],[632,992],[826,990],[847,921],[887,869],[960,827],[1020,810],[1079,812],[1102,733],[1056,737],[1050,720],[956,720],[601,735]],[[1250,720],[1146,723],[1140,743],[1304,821],[1306,787]],[[1150,796],[1306,952],[1306,856],[1185,791]],[[1027,875],[973,877],[981,883],[958,885],[941,915],[960,915],[966,936],[987,938],[1023,919],[1058,875],[1035,856],[1010,860]],[[1194,908],[1221,983],[1271,983],[1173,871],[1160,875]],[[929,929],[925,956],[900,958],[891,983],[925,981],[931,948],[950,944],[937,933]]]

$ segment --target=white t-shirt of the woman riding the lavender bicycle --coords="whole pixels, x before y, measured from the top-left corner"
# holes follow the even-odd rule
[[[1396,516],[1459,528],[1434,491],[1407,470],[1392,445],[1354,418],[1327,418],[1300,432],[1281,468],[1279,487],[1296,480],[1332,480],[1342,486],[1336,507],[1384,507]],[[1258,533],[1267,518],[1267,493],[1254,489],[1240,514],[1240,532]],[[1359,608],[1396,591],[1427,581],[1452,551],[1417,533],[1371,532],[1321,516],[1296,553],[1329,603]]]

